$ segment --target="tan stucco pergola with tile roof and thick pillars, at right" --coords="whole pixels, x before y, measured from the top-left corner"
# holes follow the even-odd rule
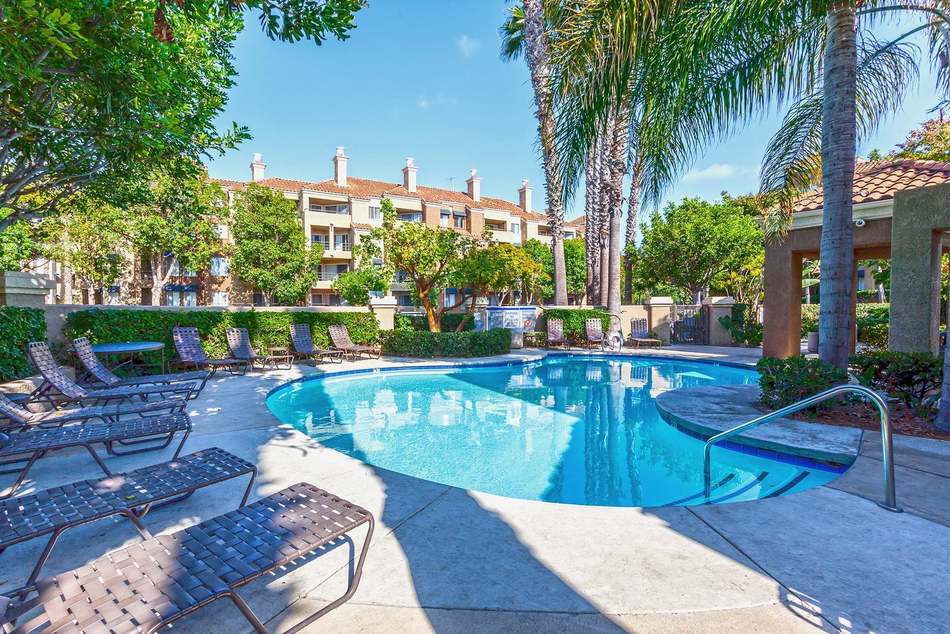
[[[766,245],[763,356],[801,354],[802,264],[818,258],[823,204],[821,188],[808,192],[795,203],[788,234]],[[853,220],[855,288],[859,259],[891,259],[888,347],[936,354],[940,255],[950,252],[950,163],[859,163]],[[854,341],[852,318],[852,349]]]

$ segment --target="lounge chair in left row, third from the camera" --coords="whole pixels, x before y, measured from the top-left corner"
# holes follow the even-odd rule
[[[112,455],[139,453],[153,449],[164,449],[171,444],[175,434],[184,432],[175,451],[178,457],[184,441],[191,433],[191,419],[186,413],[172,413],[162,416],[132,418],[114,423],[87,423],[65,425],[63,427],[19,427],[8,433],[0,433],[0,466],[2,473],[19,473],[10,491],[0,495],[5,499],[13,495],[23,484],[28,471],[37,460],[49,451],[83,447],[88,451],[106,475],[112,475],[105,466],[93,445],[104,445],[105,451]],[[116,451],[116,445],[138,447],[129,451]],[[17,465],[11,467],[10,465]]]

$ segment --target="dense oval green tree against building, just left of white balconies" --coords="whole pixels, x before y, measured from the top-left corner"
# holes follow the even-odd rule
[[[257,184],[238,192],[231,269],[278,303],[302,304],[317,279],[323,247],[308,246],[295,202]]]

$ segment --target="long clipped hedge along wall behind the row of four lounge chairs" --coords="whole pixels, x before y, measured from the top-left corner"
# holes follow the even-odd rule
[[[212,357],[230,356],[226,330],[247,328],[251,342],[257,348],[290,346],[290,325],[310,324],[314,345],[330,345],[328,326],[343,324],[350,332],[353,343],[369,344],[379,339],[379,323],[372,313],[271,313],[245,311],[173,311],[173,310],[117,310],[95,308],[77,311],[66,316],[63,333],[69,339],[87,336],[93,343],[99,341],[161,341],[165,344],[165,358],[175,355],[172,328],[194,326],[201,334],[201,344]]]

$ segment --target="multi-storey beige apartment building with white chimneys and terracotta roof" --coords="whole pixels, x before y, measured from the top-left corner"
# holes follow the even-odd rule
[[[478,171],[471,170],[466,181],[466,191],[454,191],[428,187],[418,183],[419,167],[409,158],[401,168],[402,182],[388,183],[349,175],[350,157],[343,147],[337,147],[333,155],[333,178],[307,182],[272,177],[267,175],[267,164],[260,154],[251,162],[250,181],[212,179],[219,183],[233,201],[235,193],[250,183],[270,187],[296,202],[303,222],[303,229],[311,243],[323,246],[323,259],[317,267],[319,279],[314,282],[311,303],[334,305],[340,303],[333,292],[333,279],[352,270],[352,246],[373,227],[382,224],[382,200],[390,199],[401,221],[425,222],[428,226],[451,227],[466,235],[481,235],[490,227],[493,240],[523,244],[531,239],[549,243],[551,229],[546,215],[532,209],[533,188],[523,181],[518,189],[518,203],[482,195],[482,179]],[[582,235],[583,224],[579,221],[565,223],[565,238]],[[227,225],[221,224],[218,233],[222,240],[221,253],[212,259],[210,266],[199,271],[173,271],[163,285],[160,303],[163,305],[266,305],[269,298],[237,276],[232,275],[225,255],[224,245],[233,240]],[[49,270],[56,271],[55,263]],[[56,272],[58,277],[59,271]],[[61,284],[60,284],[61,286]],[[138,256],[129,258],[129,269],[118,284],[107,289],[84,290],[83,298],[88,303],[148,304],[156,292],[151,279],[148,261]],[[458,289],[447,289],[447,300]],[[409,287],[399,276],[393,279],[389,295],[403,306],[411,306]],[[62,293],[53,293],[50,299],[62,301]],[[86,299],[87,298],[87,299]]]

